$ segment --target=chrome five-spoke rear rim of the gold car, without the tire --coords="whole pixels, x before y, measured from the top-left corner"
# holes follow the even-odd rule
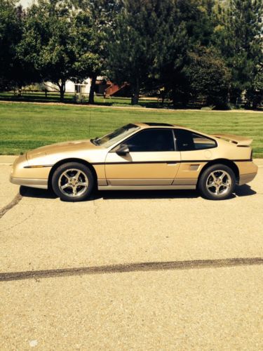
[[[227,171],[218,169],[209,174],[206,180],[206,189],[213,195],[220,196],[226,194],[231,187],[231,176]]]

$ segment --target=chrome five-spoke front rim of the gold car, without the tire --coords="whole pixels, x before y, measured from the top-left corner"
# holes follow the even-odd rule
[[[88,177],[83,171],[70,168],[61,174],[58,186],[68,197],[80,197],[88,188]]]

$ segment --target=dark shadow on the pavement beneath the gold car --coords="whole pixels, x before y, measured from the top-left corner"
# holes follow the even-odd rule
[[[58,196],[52,190],[36,189],[33,187],[20,187],[22,197],[32,197],[38,199],[57,199]],[[249,185],[237,186],[235,193],[229,197],[245,197],[255,195],[257,192],[252,190]],[[114,199],[197,199],[201,197],[197,190],[111,190],[111,191],[95,191],[90,199],[114,200]]]

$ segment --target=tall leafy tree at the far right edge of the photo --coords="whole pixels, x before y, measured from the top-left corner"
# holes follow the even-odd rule
[[[215,44],[231,69],[231,101],[252,91],[263,65],[262,0],[229,0],[219,4]]]

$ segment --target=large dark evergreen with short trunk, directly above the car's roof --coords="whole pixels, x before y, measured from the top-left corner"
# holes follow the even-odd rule
[[[173,65],[180,60],[184,29],[177,25],[175,4],[175,0],[122,1],[109,42],[109,72],[117,83],[130,84],[133,105],[142,87],[161,84],[161,67],[168,60]],[[166,50],[175,43],[175,51]]]

